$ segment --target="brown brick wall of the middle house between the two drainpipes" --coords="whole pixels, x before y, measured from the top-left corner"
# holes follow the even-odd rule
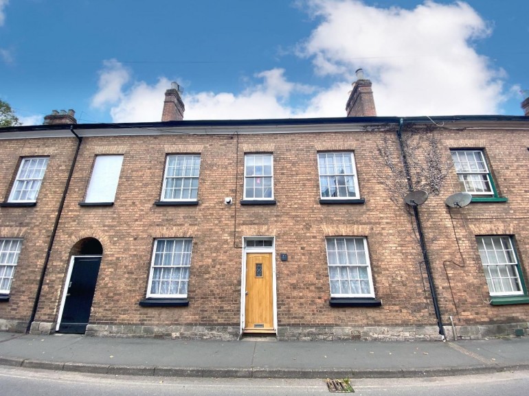
[[[102,242],[93,302],[96,324],[240,322],[242,237],[275,236],[279,325],[435,325],[423,292],[420,252],[402,208],[376,180],[372,132],[85,138],[52,254],[39,321],[55,321],[69,251],[82,237]],[[354,150],[365,205],[320,205],[318,150]],[[124,154],[113,207],[80,207],[95,154]],[[157,207],[166,153],[200,152],[196,207]],[[241,206],[245,152],[273,152],[277,205]],[[237,188],[237,196],[235,189]],[[224,198],[232,196],[235,205]],[[236,224],[235,224],[235,210]],[[234,226],[236,240],[234,247]],[[367,236],[380,308],[330,308],[325,237]],[[155,237],[193,237],[189,307],[139,307]]]

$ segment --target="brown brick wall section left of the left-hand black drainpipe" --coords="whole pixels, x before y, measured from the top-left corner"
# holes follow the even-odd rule
[[[23,156],[49,156],[41,189],[34,207],[0,207],[0,237],[23,238],[15,268],[10,301],[0,303],[2,329],[25,330],[30,320],[38,279],[44,264],[49,237],[65,188],[76,138],[0,140],[0,200],[10,195],[20,159]],[[24,325],[22,325],[22,323]]]

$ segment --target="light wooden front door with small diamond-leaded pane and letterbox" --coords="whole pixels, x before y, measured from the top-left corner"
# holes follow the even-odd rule
[[[245,332],[273,333],[272,253],[247,253]]]

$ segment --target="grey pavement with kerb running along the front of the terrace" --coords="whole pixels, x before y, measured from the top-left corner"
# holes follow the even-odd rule
[[[259,378],[434,377],[529,369],[529,338],[240,341],[0,332],[0,364],[113,375]]]

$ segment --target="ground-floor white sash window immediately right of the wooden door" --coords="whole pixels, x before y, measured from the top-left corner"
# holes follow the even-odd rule
[[[374,297],[368,240],[329,237],[326,242],[330,296]]]

